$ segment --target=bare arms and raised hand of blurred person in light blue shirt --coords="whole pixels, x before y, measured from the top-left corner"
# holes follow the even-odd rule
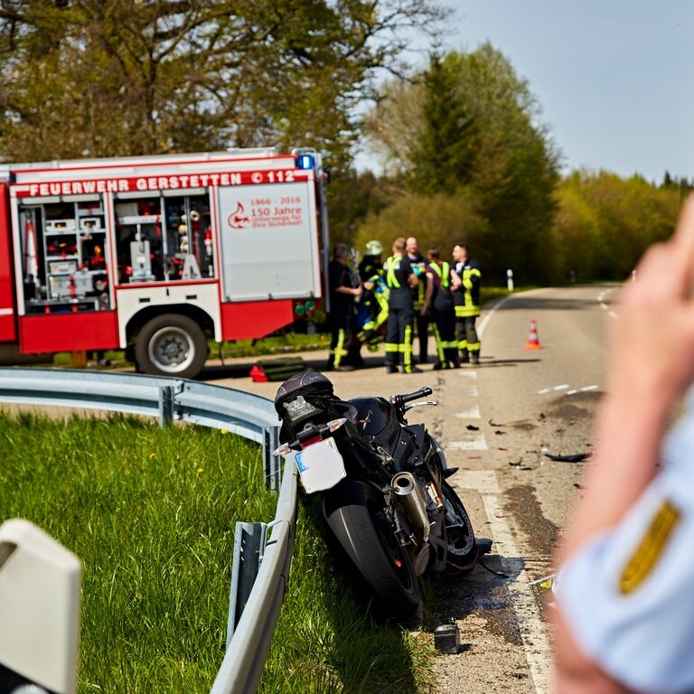
[[[596,455],[558,550],[558,564],[614,528],[657,474],[672,408],[694,380],[694,198],[672,239],[650,249],[624,286],[610,324],[607,395],[596,414]],[[628,691],[581,651],[554,614],[558,694]]]

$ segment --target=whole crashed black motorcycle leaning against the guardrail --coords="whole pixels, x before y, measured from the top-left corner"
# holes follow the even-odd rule
[[[335,397],[333,383],[305,371],[277,390],[276,455],[294,455],[305,492],[320,493],[324,519],[384,616],[404,619],[420,601],[419,577],[463,577],[488,541],[447,479],[444,451],[423,424],[408,424],[422,388],[406,395]]]

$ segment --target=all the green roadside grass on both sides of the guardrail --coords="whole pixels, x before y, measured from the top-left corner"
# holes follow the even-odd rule
[[[224,653],[235,521],[270,521],[260,449],[134,417],[0,412],[0,522],[22,517],[83,564],[78,691],[209,692]],[[429,691],[430,640],[376,624],[301,505],[260,691]]]

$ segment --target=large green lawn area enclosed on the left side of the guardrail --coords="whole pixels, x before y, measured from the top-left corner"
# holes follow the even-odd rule
[[[0,414],[3,516],[83,564],[79,691],[209,691],[235,521],[270,521],[259,447],[132,417]]]

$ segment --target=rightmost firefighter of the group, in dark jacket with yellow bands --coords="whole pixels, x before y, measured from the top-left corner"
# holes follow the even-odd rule
[[[453,248],[455,272],[462,284],[454,292],[455,336],[458,340],[461,363],[478,364],[482,343],[477,335],[475,322],[480,314],[480,285],[482,272],[480,266],[470,258],[470,249],[464,243],[456,243]]]

